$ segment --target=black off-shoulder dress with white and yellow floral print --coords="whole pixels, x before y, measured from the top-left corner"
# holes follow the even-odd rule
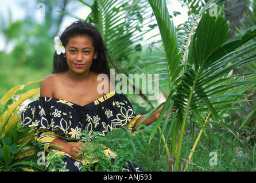
[[[65,168],[69,171],[79,171],[80,165],[87,164],[88,161],[85,158],[73,158],[67,153],[50,149],[49,145],[55,138],[74,145],[82,138],[81,132],[86,127],[88,135],[100,132],[104,136],[122,126],[134,134],[133,125],[140,116],[134,112],[127,97],[115,91],[84,106],[57,98],[39,97],[22,110],[21,126],[35,130],[35,139],[44,146],[45,156],[52,151],[64,154]],[[117,156],[109,148],[104,150],[104,153],[110,158]],[[45,167],[47,169],[47,163]],[[130,162],[126,169],[141,170]]]

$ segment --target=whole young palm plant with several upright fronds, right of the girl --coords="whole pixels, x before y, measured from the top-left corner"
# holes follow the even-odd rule
[[[218,113],[229,109],[229,104],[244,97],[245,92],[256,83],[255,73],[228,75],[232,69],[255,59],[255,54],[243,57],[255,50],[255,42],[246,46],[243,44],[255,37],[256,27],[228,40],[230,30],[225,19],[220,14],[215,17],[206,13],[214,3],[224,1],[212,0],[201,6],[196,19],[192,18],[195,21],[190,25],[193,26],[181,37],[169,18],[165,1],[149,0],[149,3],[160,29],[169,81],[168,98],[153,127],[150,140],[159,129],[164,112],[175,105],[179,109],[177,118],[166,122],[170,123],[168,134],[172,134],[172,154],[169,159],[174,156],[175,161],[172,162],[177,171],[183,136],[189,121],[195,121],[201,129],[200,133],[205,136],[205,127],[210,128],[211,123],[231,132]],[[195,146],[192,150],[195,150]]]

